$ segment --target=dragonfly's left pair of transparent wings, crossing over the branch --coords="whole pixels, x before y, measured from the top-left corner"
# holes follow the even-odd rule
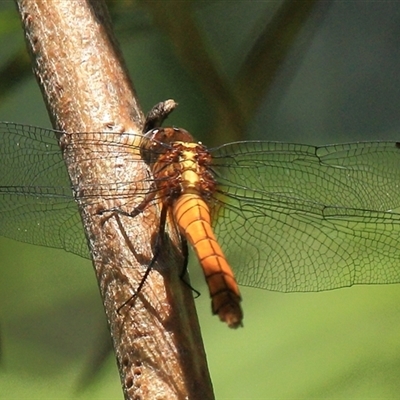
[[[69,150],[83,144],[87,157],[113,162],[116,171],[115,177],[108,177],[108,181],[100,182],[98,187],[86,187],[77,192],[71,187],[56,133],[27,125],[0,123],[0,235],[62,248],[89,258],[74,196],[79,193],[80,201],[93,202],[107,193],[111,197],[118,196],[121,207],[128,202],[133,185],[117,181],[116,176],[118,170],[137,162],[132,157],[135,146],[131,143],[138,136],[90,133],[88,141],[85,135],[89,134],[71,135],[64,149],[65,157],[72,157]],[[144,193],[144,182],[142,186]]]

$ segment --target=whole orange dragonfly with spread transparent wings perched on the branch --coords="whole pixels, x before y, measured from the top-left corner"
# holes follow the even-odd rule
[[[87,134],[64,135],[76,143]],[[132,211],[105,212],[134,217],[161,205],[161,223],[172,221],[194,248],[213,313],[230,327],[243,318],[237,283],[308,292],[400,282],[399,143],[207,149],[178,128],[90,135],[93,146],[112,143],[91,157],[134,168],[136,148],[148,164],[141,182],[102,183],[142,199]],[[75,198],[89,200],[71,187],[53,130],[0,123],[0,170],[0,235],[89,258]]]

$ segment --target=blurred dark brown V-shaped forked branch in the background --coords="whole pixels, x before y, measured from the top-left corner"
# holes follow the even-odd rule
[[[212,144],[241,139],[317,3],[318,0],[285,0],[269,23],[265,23],[268,16],[261,15],[259,23],[265,27],[248,52],[236,79],[230,82],[218,68],[212,49],[197,27],[193,2],[174,2],[173,6],[162,1],[142,2],[156,26],[169,36],[179,60],[212,104],[215,118],[210,136],[217,138]],[[308,38],[312,34],[310,30]]]

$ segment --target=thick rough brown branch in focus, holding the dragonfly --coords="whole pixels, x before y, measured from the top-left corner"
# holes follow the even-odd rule
[[[95,152],[111,155],[115,151],[112,135],[107,139],[106,133],[73,133],[140,133],[143,126],[143,114],[104,2],[16,2],[33,70],[53,126],[71,133],[64,135],[67,137],[64,146],[68,149],[66,162],[77,193],[97,187],[99,182],[110,183],[110,177],[124,182],[140,179],[145,170],[139,162],[135,163],[138,165],[135,170],[119,165],[117,157],[94,159],[93,154],[98,154]],[[100,148],[94,142],[99,137],[104,138]],[[129,149],[122,158],[128,153],[138,157]],[[120,314],[117,312],[118,306],[138,287],[146,262],[151,259],[150,243],[157,231],[154,210],[146,217],[121,217],[118,221],[105,220],[98,213],[100,209],[117,207],[117,198],[98,195],[90,204],[78,198],[78,205],[125,398],[212,399],[193,296],[179,279],[181,267],[176,265],[177,261],[181,265],[181,257],[174,246],[163,250],[163,257],[134,304],[121,309]],[[127,246],[126,237],[135,243],[136,257]],[[143,260],[143,265],[138,260]]]

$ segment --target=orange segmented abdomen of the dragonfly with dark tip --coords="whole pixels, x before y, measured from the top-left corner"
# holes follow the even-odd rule
[[[197,194],[182,194],[173,205],[175,220],[194,248],[210,290],[212,311],[231,328],[242,325],[240,292],[210,224],[210,211]]]

